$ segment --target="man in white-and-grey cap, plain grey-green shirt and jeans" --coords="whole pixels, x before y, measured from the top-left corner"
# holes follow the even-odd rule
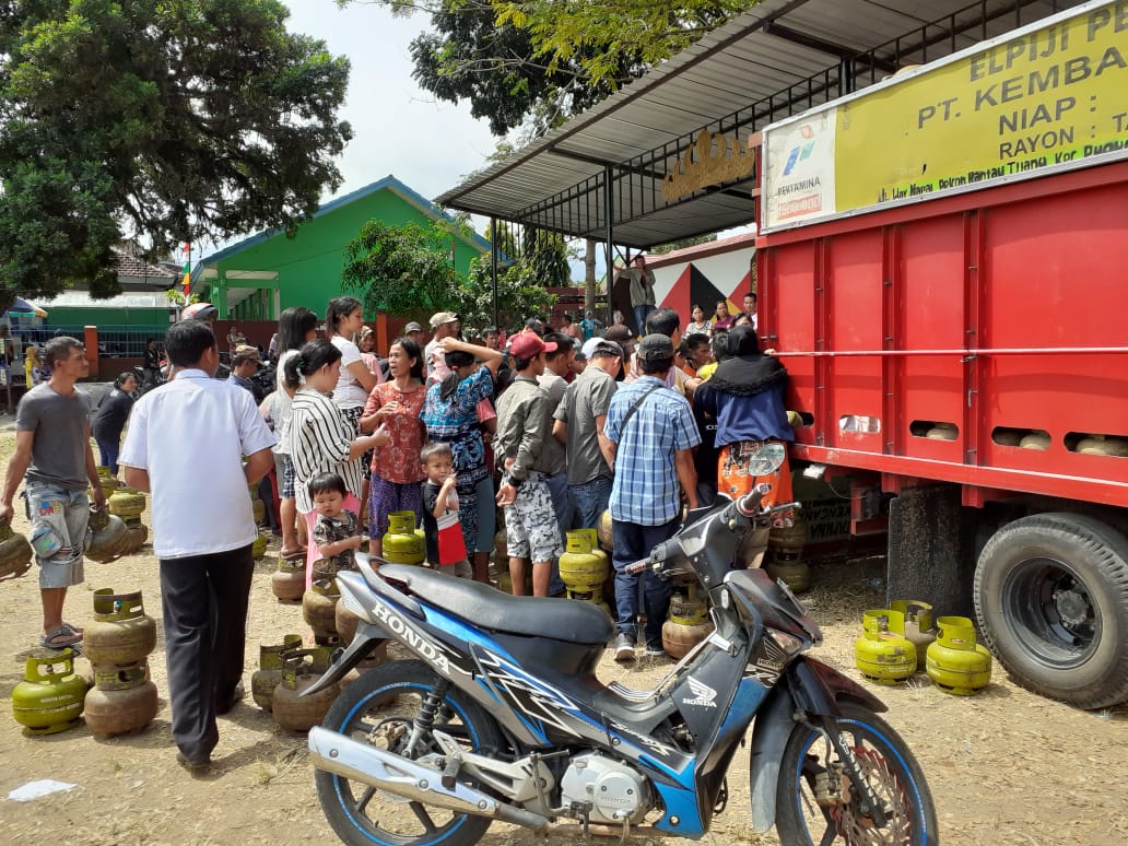
[[[607,510],[615,449],[603,425],[615,396],[615,377],[622,368],[623,349],[597,338],[588,354],[588,367],[567,386],[554,415],[553,435],[567,453],[567,483],[575,504],[569,528],[598,528]]]

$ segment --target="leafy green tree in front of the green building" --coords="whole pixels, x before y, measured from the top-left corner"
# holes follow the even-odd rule
[[[458,273],[450,261],[451,224],[370,220],[345,248],[342,277],[361,291],[367,311],[396,315],[452,309]]]

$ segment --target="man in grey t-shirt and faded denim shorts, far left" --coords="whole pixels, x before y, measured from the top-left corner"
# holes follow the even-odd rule
[[[16,488],[26,476],[30,541],[39,565],[43,634],[49,649],[78,649],[82,631],[63,622],[67,589],[81,584],[82,543],[90,503],[105,504],[90,450],[90,400],[74,384],[89,374],[81,342],[56,337],[43,351],[51,380],[24,395],[16,409],[16,451],[8,461],[0,520],[10,520]]]

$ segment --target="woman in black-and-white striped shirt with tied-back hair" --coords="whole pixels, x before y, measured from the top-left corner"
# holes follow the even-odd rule
[[[311,341],[285,363],[285,384],[296,390],[290,413],[289,452],[293,464],[293,492],[298,511],[306,518],[309,537],[314,534],[317,513],[309,496],[309,481],[321,473],[336,473],[345,481],[349,496],[345,508],[360,510],[361,484],[364,478],[364,452],[390,440],[387,431],[356,437],[351,423],[332,399],[341,376],[341,350],[328,341]],[[312,574],[317,546],[310,544],[306,555],[306,583]]]

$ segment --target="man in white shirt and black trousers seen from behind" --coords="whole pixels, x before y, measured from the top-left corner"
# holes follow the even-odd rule
[[[274,462],[274,434],[248,391],[212,379],[219,349],[206,323],[175,324],[165,344],[176,379],[133,406],[120,464],[126,484],[152,492],[173,739],[194,772],[211,765],[215,715],[243,696],[258,534],[247,487]]]

